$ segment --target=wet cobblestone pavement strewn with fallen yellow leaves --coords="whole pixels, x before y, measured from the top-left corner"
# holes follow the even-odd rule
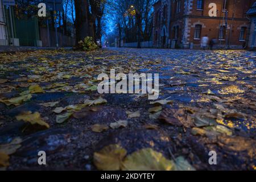
[[[116,155],[118,144],[127,156],[143,148],[175,164],[182,156],[196,170],[256,169],[255,60],[249,51],[1,53],[0,168],[106,169],[111,158],[102,155]],[[97,76],[110,69],[159,73],[159,102],[99,94]],[[46,166],[38,151],[46,151]],[[209,165],[210,151],[217,165]]]

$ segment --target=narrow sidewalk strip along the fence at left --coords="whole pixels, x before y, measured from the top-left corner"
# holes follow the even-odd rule
[[[72,49],[72,47],[30,47],[30,46],[0,46],[0,53],[16,51],[37,51],[37,50],[55,50],[55,49]]]

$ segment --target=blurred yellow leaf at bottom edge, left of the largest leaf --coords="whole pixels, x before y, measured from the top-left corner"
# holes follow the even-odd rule
[[[119,170],[126,153],[126,150],[118,146],[118,144],[110,144],[102,148],[101,151],[94,152],[93,162],[97,169],[100,170]]]

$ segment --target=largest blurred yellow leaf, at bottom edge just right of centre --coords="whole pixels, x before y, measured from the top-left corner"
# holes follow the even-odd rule
[[[160,152],[152,148],[133,152],[122,163],[122,170],[127,171],[172,171],[174,169],[175,163],[172,160],[164,158]]]

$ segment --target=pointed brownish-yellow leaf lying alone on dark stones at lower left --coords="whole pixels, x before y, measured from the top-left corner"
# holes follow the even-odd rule
[[[23,120],[25,122],[30,122],[32,125],[38,124],[41,126],[46,126],[49,128],[48,123],[44,122],[43,119],[40,118],[40,113],[35,112],[32,114],[31,111],[24,112],[16,116],[18,121]]]

